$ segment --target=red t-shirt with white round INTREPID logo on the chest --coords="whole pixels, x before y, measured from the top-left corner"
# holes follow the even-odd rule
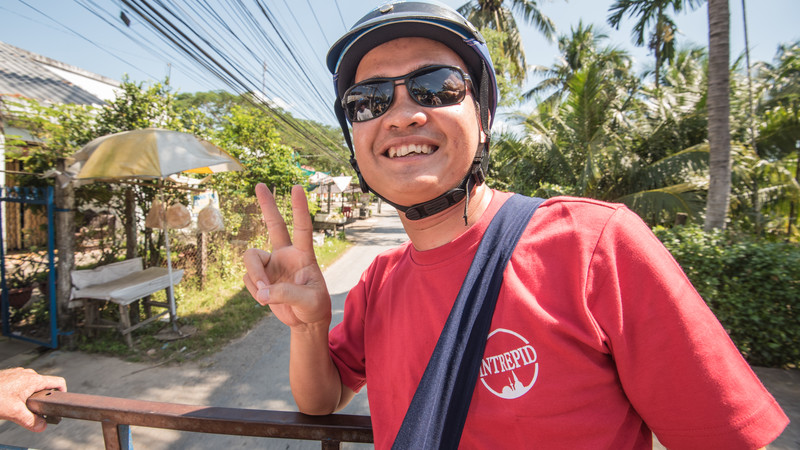
[[[342,381],[389,448],[492,217],[424,252],[380,255],[330,333]],[[504,272],[462,448],[755,448],[788,423],[649,228],[621,205],[555,198]]]

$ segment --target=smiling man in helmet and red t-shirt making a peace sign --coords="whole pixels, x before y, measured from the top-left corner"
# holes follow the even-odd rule
[[[480,34],[438,3],[376,9],[334,44],[328,66],[362,189],[398,209],[410,242],[373,262],[329,334],[304,193],[292,191],[292,242],[260,185],[273,251],[248,250],[244,281],[291,328],[300,411],[334,412],[369,384],[376,447],[386,448],[510,197],[483,184],[497,85]],[[356,116],[362,100],[373,118]],[[645,449],[652,430],[670,448],[758,448],[787,422],[635,214],[554,198],[504,272],[460,445]]]

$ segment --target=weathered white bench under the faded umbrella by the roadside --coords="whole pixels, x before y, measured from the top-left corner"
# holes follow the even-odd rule
[[[133,339],[130,334],[133,330],[169,313],[168,303],[149,299],[151,294],[169,287],[169,273],[164,267],[143,269],[142,258],[106,264],[94,269],[73,270],[70,275],[72,278],[70,300],[82,300],[86,307],[85,326],[87,328],[117,328],[129,347],[133,347]],[[173,285],[180,283],[182,278],[183,269],[172,271]],[[143,302],[147,319],[131,325],[130,304],[145,297],[148,297]],[[119,322],[100,317],[97,303],[101,301],[119,305]],[[71,306],[72,304],[73,302],[70,302]],[[151,316],[151,306],[166,308],[166,311]]]

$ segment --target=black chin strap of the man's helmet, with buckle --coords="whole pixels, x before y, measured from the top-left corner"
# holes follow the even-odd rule
[[[484,105],[488,104],[489,99],[489,88],[488,82],[488,75],[486,73],[486,67],[483,67],[483,73],[481,74],[482,82],[480,86],[480,125],[481,130],[488,130],[489,129],[489,112],[488,108]],[[364,176],[361,175],[361,170],[358,168],[358,162],[356,161],[355,157],[355,149],[353,147],[353,141],[350,137],[350,128],[347,126],[347,119],[344,116],[344,110],[341,107],[341,100],[337,97],[334,103],[334,111],[336,111],[336,117],[339,119],[339,125],[342,127],[342,134],[344,135],[344,140],[347,143],[347,146],[350,148],[350,165],[353,166],[353,169],[356,171],[356,175],[358,176],[358,184],[361,187],[361,192],[368,193],[372,192],[373,194],[377,195],[386,203],[392,205],[399,211],[402,211],[408,220],[420,220],[426,217],[433,216],[438,214],[446,209],[449,209],[455,205],[457,205],[461,200],[466,198],[464,202],[464,226],[468,225],[467,218],[467,210],[469,207],[469,196],[472,193],[472,190],[475,186],[480,186],[486,180],[486,172],[489,166],[489,133],[484,132],[484,142],[478,144],[478,149],[475,151],[475,156],[472,160],[472,165],[470,166],[469,172],[464,176],[464,179],[459,183],[458,186],[450,189],[449,191],[445,192],[444,194],[426,202],[417,203],[416,205],[411,206],[404,206],[398,205],[393,201],[387,199],[383,195],[375,192],[374,189],[369,187],[366,180],[364,180]]]

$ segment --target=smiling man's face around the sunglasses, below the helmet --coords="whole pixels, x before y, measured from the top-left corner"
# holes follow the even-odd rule
[[[461,58],[444,44],[400,38],[372,49],[361,60],[355,82],[396,77],[434,64],[458,66]],[[356,160],[372,189],[401,204],[422,203],[461,182],[469,170],[481,130],[472,94],[459,104],[420,106],[405,86],[395,86],[389,110],[353,124]]]

